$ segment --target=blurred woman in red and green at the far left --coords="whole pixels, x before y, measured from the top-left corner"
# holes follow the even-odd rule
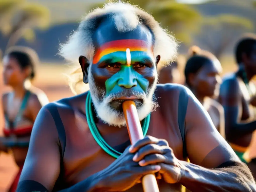
[[[31,84],[38,63],[36,52],[26,47],[11,48],[3,59],[4,83],[13,91],[2,96],[5,127],[4,137],[0,137],[0,152],[11,150],[19,167],[9,192],[16,191],[37,114],[49,102],[46,94]]]

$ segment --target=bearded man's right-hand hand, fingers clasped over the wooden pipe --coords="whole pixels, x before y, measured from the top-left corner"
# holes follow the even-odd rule
[[[166,140],[146,136],[130,147],[129,151],[135,153],[133,161],[139,162],[140,166],[160,165],[159,173],[165,182],[174,184],[182,178],[182,163],[174,156]]]

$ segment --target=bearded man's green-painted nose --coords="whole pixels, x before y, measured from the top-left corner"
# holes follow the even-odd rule
[[[133,68],[132,67],[125,67],[123,69],[123,74],[118,81],[118,85],[120,87],[124,87],[126,89],[130,89],[132,87],[137,86],[137,79],[136,75],[134,74]]]

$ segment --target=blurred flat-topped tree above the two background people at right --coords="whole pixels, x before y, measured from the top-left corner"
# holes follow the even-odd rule
[[[219,59],[239,36],[252,29],[253,23],[245,17],[221,14],[205,18],[201,28],[204,33],[195,36],[194,40],[204,44]]]

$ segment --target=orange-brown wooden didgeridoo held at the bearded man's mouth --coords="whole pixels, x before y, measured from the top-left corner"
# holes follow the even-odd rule
[[[141,123],[137,113],[136,105],[134,101],[125,101],[123,103],[123,111],[126,120],[127,129],[129,132],[132,145],[138,140],[144,138]],[[159,192],[156,177],[153,174],[149,174],[143,177],[142,185],[144,192]]]

